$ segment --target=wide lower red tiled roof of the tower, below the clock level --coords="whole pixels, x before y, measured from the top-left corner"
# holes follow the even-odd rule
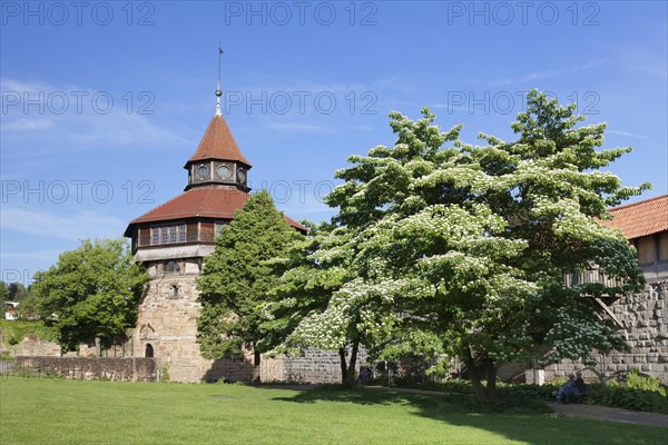
[[[237,189],[205,187],[191,188],[176,198],[156,207],[155,209],[132,219],[126,229],[126,236],[131,236],[131,227],[136,224],[168,221],[193,217],[234,219],[234,214],[246,204],[248,194]],[[298,230],[306,231],[306,227],[292,218],[285,221]]]

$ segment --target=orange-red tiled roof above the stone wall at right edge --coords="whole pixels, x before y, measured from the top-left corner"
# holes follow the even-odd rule
[[[613,207],[608,211],[612,219],[601,224],[621,229],[628,239],[668,230],[668,195]]]

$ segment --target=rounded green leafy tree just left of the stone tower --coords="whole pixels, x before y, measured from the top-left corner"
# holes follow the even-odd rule
[[[62,349],[76,350],[96,337],[104,347],[124,337],[135,325],[147,280],[125,239],[87,239],[37,273],[31,290],[41,317],[56,319]]]

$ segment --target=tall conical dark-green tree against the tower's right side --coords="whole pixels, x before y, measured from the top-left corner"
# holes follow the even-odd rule
[[[253,195],[222,228],[197,280],[202,303],[197,340],[204,357],[234,357],[253,350],[254,379],[259,378],[261,354],[271,347],[271,342],[263,342],[265,307],[283,274],[276,258],[289,256],[291,246],[301,238],[266,190]]]

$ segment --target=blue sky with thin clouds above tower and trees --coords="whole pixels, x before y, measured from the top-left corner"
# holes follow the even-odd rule
[[[2,279],[30,283],[79,240],[118,237],[178,195],[215,111],[296,219],[347,156],[392,145],[387,113],[428,106],[511,139],[523,92],[608,122],[611,171],[668,192],[668,10],[656,2],[2,1]],[[640,198],[639,198],[640,199]]]

